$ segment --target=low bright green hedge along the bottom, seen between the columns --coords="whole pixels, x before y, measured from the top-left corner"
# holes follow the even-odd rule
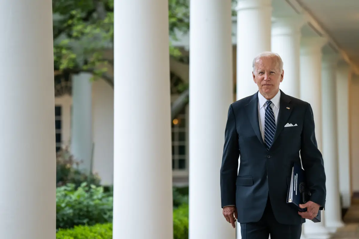
[[[112,223],[59,229],[56,239],[112,239]],[[188,205],[173,211],[173,239],[188,239]]]

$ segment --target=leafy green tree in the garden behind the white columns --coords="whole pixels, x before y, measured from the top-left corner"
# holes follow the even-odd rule
[[[236,1],[236,0],[235,0]],[[189,30],[188,0],[168,0],[169,35]],[[113,0],[52,0],[54,68],[66,73],[90,72],[114,86]],[[170,55],[180,49],[170,42]],[[188,103],[188,86],[180,85],[180,97],[171,106],[172,119]]]

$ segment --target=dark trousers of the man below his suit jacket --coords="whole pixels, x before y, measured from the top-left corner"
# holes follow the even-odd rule
[[[299,239],[302,224],[285,225],[275,219],[269,197],[261,220],[256,223],[241,223],[242,239]]]

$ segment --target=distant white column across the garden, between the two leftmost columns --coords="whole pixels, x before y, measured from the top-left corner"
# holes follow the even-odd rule
[[[71,153],[86,173],[92,169],[92,75],[72,76]]]

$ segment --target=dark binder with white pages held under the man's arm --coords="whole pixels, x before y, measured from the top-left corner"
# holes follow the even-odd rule
[[[311,193],[306,187],[304,170],[302,169],[300,164],[294,163],[292,166],[292,172],[291,172],[286,202],[290,206],[292,206],[295,210],[298,210],[300,212],[305,212],[307,211],[307,209],[300,208],[299,204],[305,204],[307,201],[309,201],[310,196]],[[321,221],[320,210],[318,211],[317,216],[312,219],[312,221],[314,223],[318,223]]]

